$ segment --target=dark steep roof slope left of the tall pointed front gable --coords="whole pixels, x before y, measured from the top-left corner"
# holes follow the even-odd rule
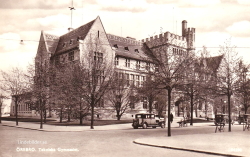
[[[96,20],[96,19],[95,19]],[[90,21],[89,23],[82,25],[62,36],[59,38],[59,42],[55,51],[55,54],[59,54],[63,51],[70,50],[76,46],[78,46],[77,40],[84,40],[87,36],[91,26],[95,22],[95,20]],[[65,46],[65,47],[64,47]]]

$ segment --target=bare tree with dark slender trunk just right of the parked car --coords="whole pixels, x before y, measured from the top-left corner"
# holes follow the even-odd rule
[[[167,90],[168,95],[168,115],[171,110],[171,94],[173,89],[182,85],[186,69],[191,65],[190,58],[194,55],[192,51],[175,54],[172,47],[162,46],[157,49],[149,49],[144,44],[145,52],[154,60],[155,79],[158,87]],[[171,136],[170,119],[168,118],[168,136]]]

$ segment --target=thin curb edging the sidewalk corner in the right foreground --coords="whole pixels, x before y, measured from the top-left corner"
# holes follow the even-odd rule
[[[209,152],[209,151],[202,151],[202,150],[195,150],[195,149],[187,149],[187,148],[178,148],[178,147],[171,147],[171,146],[160,146],[160,145],[146,144],[146,143],[142,143],[142,142],[137,142],[136,140],[134,140],[133,143],[139,144],[139,145],[144,145],[144,146],[175,149],[175,150],[196,152],[196,153],[202,153],[202,154],[220,155],[220,156],[228,156],[228,157],[242,157],[242,156],[239,156],[239,155],[223,154],[223,153],[216,153],[216,152]]]

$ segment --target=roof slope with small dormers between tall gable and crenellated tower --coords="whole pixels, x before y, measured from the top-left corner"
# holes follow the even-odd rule
[[[139,41],[112,34],[107,34],[107,37],[110,45],[115,50],[116,56],[136,60],[148,60],[148,56],[144,53],[142,44]],[[125,47],[128,49],[126,50]]]

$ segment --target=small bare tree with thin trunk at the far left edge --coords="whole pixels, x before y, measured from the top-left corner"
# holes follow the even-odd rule
[[[25,99],[25,94],[30,90],[28,81],[21,68],[12,68],[9,72],[1,72],[1,88],[10,94],[15,101],[16,125],[18,125],[18,105]]]

